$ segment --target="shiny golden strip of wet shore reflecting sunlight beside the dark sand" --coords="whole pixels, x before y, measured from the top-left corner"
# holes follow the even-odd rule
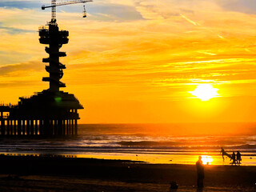
[[[138,152],[138,151],[137,151]],[[28,151],[20,153],[2,152],[0,155],[8,156],[33,156],[33,157],[50,157],[50,158],[98,158],[98,159],[112,159],[112,160],[130,160],[138,162],[148,162],[152,164],[188,164],[194,165],[198,160],[198,156],[202,156],[202,162],[204,165],[230,165],[228,158],[225,162],[222,160],[222,156],[214,153],[134,153],[134,151],[114,152],[107,150],[106,152],[99,151],[79,151],[76,154],[68,154],[66,151],[47,151],[44,153],[38,153],[37,151]],[[255,157],[242,156],[242,166],[256,166]]]

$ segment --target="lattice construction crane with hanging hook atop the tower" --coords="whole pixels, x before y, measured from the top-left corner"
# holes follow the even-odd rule
[[[42,6],[42,10],[51,7],[51,22],[56,22],[56,6],[66,6],[71,4],[77,3],[86,3],[86,2],[93,2],[93,0],[74,0],[74,1],[67,1],[67,2],[56,2],[56,0],[51,0],[50,6]],[[84,6],[83,11],[83,18],[86,18],[86,7]]]

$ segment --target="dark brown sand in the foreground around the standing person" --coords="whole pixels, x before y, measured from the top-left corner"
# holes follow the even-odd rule
[[[197,191],[194,165],[0,156],[0,191]],[[205,166],[203,191],[256,191],[256,166]]]

